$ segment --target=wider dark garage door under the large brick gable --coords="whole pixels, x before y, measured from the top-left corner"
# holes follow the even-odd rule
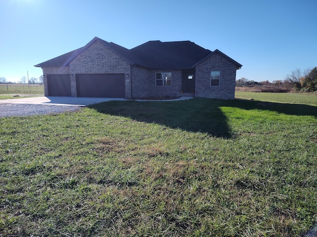
[[[124,74],[76,74],[78,97],[125,98]]]

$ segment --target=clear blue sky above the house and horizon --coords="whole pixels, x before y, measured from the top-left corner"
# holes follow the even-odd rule
[[[0,0],[0,77],[38,78],[34,65],[95,36],[133,48],[190,40],[243,65],[237,79],[283,80],[317,66],[317,0]]]

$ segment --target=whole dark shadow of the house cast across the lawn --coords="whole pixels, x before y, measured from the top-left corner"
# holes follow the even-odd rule
[[[287,115],[315,116],[317,107],[249,100],[194,98],[184,101],[109,101],[89,106],[100,113],[124,116],[214,137],[231,138],[232,132],[220,107],[269,110]]]

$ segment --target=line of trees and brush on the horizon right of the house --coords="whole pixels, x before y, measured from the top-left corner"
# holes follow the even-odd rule
[[[236,80],[237,87],[274,86],[282,88],[294,88],[296,91],[317,91],[317,67],[304,71],[296,69],[286,76],[284,80],[273,80],[272,82],[254,81],[246,78]]]

